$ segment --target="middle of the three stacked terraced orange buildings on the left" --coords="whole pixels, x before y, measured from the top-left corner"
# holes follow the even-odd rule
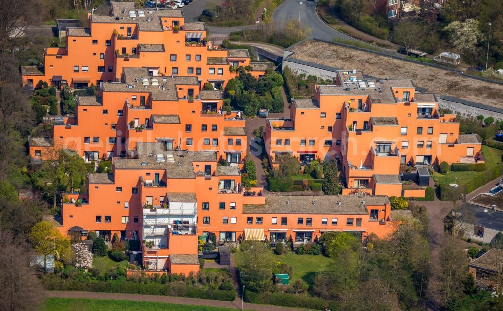
[[[53,125],[52,140],[30,139],[32,160],[46,159],[53,146],[78,152],[86,161],[128,157],[136,142],[218,151],[219,159],[235,165],[244,160],[245,120],[241,112],[219,113],[219,90],[199,90],[196,77],[156,76],[147,68],[122,71],[122,82],[101,84],[101,96],[77,97],[75,116]]]

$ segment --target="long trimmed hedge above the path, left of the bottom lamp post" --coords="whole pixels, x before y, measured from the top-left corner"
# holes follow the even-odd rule
[[[184,282],[169,284],[148,283],[141,284],[128,281],[85,281],[77,282],[64,280],[59,277],[43,277],[42,286],[46,290],[80,290],[93,292],[114,292],[125,294],[164,295],[187,298],[199,298],[221,301],[234,301],[234,290],[211,290],[187,286]]]

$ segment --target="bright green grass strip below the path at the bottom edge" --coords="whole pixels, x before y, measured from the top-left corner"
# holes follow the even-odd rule
[[[199,305],[172,304],[148,301],[129,300],[101,300],[101,299],[70,299],[70,298],[47,298],[42,306],[43,311],[63,310],[171,310],[171,311],[224,311],[229,308],[219,308]]]

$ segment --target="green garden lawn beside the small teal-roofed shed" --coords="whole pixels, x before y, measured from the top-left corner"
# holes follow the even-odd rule
[[[277,261],[283,261],[289,266],[293,267],[293,277],[290,280],[295,281],[296,279],[302,279],[304,282],[312,286],[314,284],[314,277],[316,273],[323,271],[330,271],[331,258],[325,257],[323,255],[297,255],[282,254],[274,255],[274,259]]]

